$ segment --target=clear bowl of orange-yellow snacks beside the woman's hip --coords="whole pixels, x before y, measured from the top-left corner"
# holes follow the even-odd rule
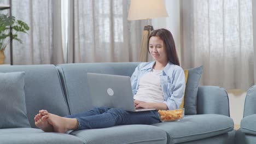
[[[185,109],[159,110],[158,115],[162,122],[178,121],[184,117]]]

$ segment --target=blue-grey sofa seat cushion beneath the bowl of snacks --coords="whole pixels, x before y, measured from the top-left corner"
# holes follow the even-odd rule
[[[230,117],[215,114],[187,115],[179,121],[153,125],[167,131],[168,143],[200,140],[234,129],[234,122]]]

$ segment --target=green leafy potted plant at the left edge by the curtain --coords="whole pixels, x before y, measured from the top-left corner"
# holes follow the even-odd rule
[[[27,33],[29,29],[27,23],[15,20],[14,16],[0,14],[0,64],[4,63],[4,50],[10,44],[10,40],[13,39],[22,43],[21,39],[18,38],[18,33]]]

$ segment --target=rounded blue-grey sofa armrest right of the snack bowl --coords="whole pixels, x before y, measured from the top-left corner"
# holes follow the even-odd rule
[[[200,86],[197,93],[197,114],[230,116],[228,93],[222,87]]]

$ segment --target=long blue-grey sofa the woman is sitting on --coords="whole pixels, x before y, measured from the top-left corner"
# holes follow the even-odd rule
[[[1,128],[0,143],[235,143],[228,95],[225,89],[214,86],[200,86],[195,100],[197,115],[185,115],[176,122],[120,125],[68,134],[44,133],[35,127],[33,118],[40,109],[66,116],[92,108],[86,73],[131,76],[138,64],[0,66],[0,73],[25,71],[26,116],[30,124],[30,127]]]

